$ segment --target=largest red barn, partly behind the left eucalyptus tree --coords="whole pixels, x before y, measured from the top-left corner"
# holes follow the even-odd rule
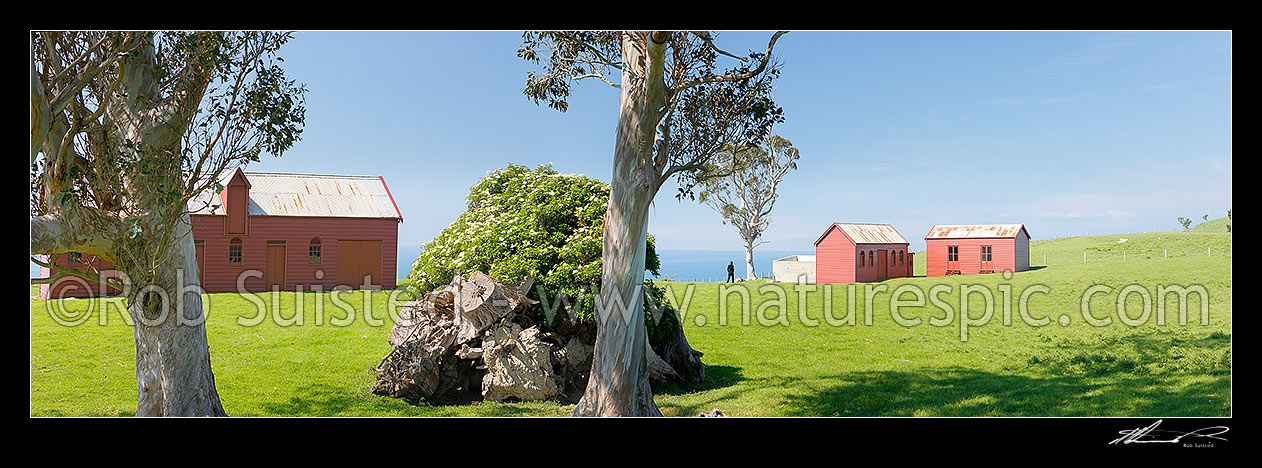
[[[403,213],[382,177],[237,169],[220,183],[222,192],[202,193],[188,203],[197,267],[207,293],[237,291],[239,281],[251,293],[298,286],[307,291],[338,285],[395,288]],[[54,260],[112,269],[100,259],[74,254]],[[44,299],[92,296],[97,288],[63,278],[40,285],[39,294]]]

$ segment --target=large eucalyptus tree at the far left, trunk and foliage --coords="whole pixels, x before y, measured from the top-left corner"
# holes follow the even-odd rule
[[[120,271],[107,279],[32,257],[54,272],[37,283],[74,275],[124,291],[136,415],[225,415],[189,202],[221,188],[220,174],[262,153],[279,156],[300,137],[305,87],[285,77],[276,56],[290,34],[35,32],[30,39],[30,254],[90,254]]]

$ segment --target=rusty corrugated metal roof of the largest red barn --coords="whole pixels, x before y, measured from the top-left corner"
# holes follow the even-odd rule
[[[385,179],[372,175],[244,173],[250,180],[251,216],[403,218]],[[225,177],[225,182],[232,174]],[[207,204],[217,204],[209,208]],[[218,193],[188,203],[194,214],[225,214]]]

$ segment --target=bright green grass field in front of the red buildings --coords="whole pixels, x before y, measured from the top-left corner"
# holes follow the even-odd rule
[[[1126,238],[1126,242],[1119,242]],[[1083,252],[1088,260],[1083,261]],[[1122,252],[1126,260],[1122,260]],[[1162,252],[1169,252],[1169,259]],[[1175,255],[1175,252],[1180,252]],[[1047,254],[1044,266],[1044,254]],[[1232,257],[1230,235],[1161,232],[1073,237],[1031,245],[1031,271],[1003,275],[911,278],[856,285],[853,323],[823,319],[823,293],[799,303],[793,286],[742,284],[751,312],[742,324],[740,293],[729,291],[723,323],[718,284],[669,283],[681,299],[693,286],[683,322],[694,348],[705,353],[707,380],[689,387],[655,389],[665,415],[693,416],[719,409],[733,416],[1224,416],[1230,415]],[[916,271],[924,274],[923,256]],[[1151,307],[1138,325],[1123,323],[1116,304],[1127,285],[1147,290]],[[953,309],[953,320],[934,303],[890,310],[890,293],[910,285]],[[960,327],[960,288],[991,291],[992,319]],[[1046,293],[1029,300],[1026,323],[1015,305],[1026,288]],[[1083,293],[1094,285],[1109,293],[1090,296],[1092,325],[1080,312]],[[1208,291],[1208,324],[1200,300],[1189,299],[1180,325],[1176,295],[1166,298],[1165,323],[1156,322],[1157,288],[1200,285]],[[762,291],[760,288],[767,286]],[[864,318],[864,288],[886,286]],[[1010,324],[1003,322],[1003,291],[1011,286]],[[777,301],[776,289],[785,293]],[[1143,315],[1142,294],[1127,295],[1127,322]],[[33,289],[32,295],[37,291]],[[485,402],[435,407],[369,394],[371,368],[389,352],[387,291],[304,294],[302,323],[294,322],[295,294],[281,293],[279,312],[257,325],[251,299],[269,295],[212,294],[207,331],[216,385],[233,416],[562,416],[572,406],[550,401]],[[848,312],[847,285],[833,285],[832,317]],[[911,293],[904,294],[911,298]],[[984,294],[969,296],[969,320],[981,322]],[[353,304],[353,317],[333,300]],[[323,310],[317,310],[316,304]],[[780,304],[779,307],[776,304]],[[102,305],[107,312],[102,315]],[[136,405],[135,351],[121,299],[30,300],[30,412],[57,415],[131,415]],[[87,313],[88,309],[95,312]],[[760,308],[762,309],[760,312]],[[58,324],[58,310],[85,323]],[[87,313],[85,315],[85,313]],[[1061,320],[1066,320],[1063,325]],[[64,320],[63,320],[64,322]],[[103,322],[103,324],[102,324]],[[346,325],[338,325],[350,322]],[[818,325],[811,323],[819,322]],[[834,320],[835,322],[835,320]],[[962,334],[967,333],[967,341]]]

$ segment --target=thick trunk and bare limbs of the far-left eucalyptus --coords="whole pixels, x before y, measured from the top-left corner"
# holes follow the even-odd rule
[[[120,192],[127,203],[117,211],[49,197],[50,213],[30,222],[30,249],[32,254],[98,255],[131,279],[125,293],[136,346],[138,416],[225,416],[211,372],[189,216],[180,213],[174,226],[165,226],[170,218],[162,216],[186,208],[182,202],[172,202],[169,194],[186,182],[179,164],[182,139],[212,79],[212,69],[194,67],[197,71],[179,79],[164,97],[155,76],[153,37],[143,38],[139,45],[119,62],[122,92],[111,93],[110,101],[101,103],[117,149],[136,151],[140,161],[121,174]],[[57,141],[73,135],[68,129],[45,135],[40,114],[44,106],[34,101],[43,93],[33,85],[32,141],[44,141],[45,158],[56,158],[64,153]],[[62,167],[68,170],[67,163]],[[53,192],[45,193],[69,187],[72,180],[67,174],[50,174],[44,189]],[[140,231],[126,235],[131,228]]]

